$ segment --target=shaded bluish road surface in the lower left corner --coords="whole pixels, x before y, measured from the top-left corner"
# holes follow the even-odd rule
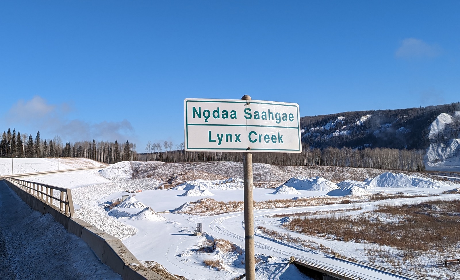
[[[116,280],[88,245],[0,181],[0,279]]]

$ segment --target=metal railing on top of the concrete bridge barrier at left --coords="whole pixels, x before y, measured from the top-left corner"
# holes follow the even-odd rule
[[[72,200],[70,189],[19,180],[11,177],[4,177],[4,180],[12,183],[19,189],[23,189],[25,192],[35,196],[39,200],[44,201],[46,204],[58,206],[59,210],[62,213],[69,215],[69,217],[74,217],[74,202]],[[60,194],[58,196],[54,196],[57,194],[56,192],[60,192]]]

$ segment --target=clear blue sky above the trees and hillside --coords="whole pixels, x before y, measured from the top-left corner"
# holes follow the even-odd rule
[[[144,151],[184,98],[302,116],[460,101],[460,1],[4,1],[2,130]]]

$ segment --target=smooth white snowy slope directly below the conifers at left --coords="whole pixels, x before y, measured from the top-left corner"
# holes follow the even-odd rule
[[[83,167],[108,166],[85,158],[0,158],[0,176]],[[12,169],[12,170],[11,170]]]

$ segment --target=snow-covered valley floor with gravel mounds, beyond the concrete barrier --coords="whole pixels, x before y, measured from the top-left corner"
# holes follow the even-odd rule
[[[70,187],[76,204],[76,214],[81,219],[123,240],[132,253],[142,261],[156,261],[173,273],[188,279],[232,279],[244,273],[244,217],[242,212],[215,216],[177,214],[173,210],[184,203],[196,201],[210,195],[184,196],[184,192],[208,191],[217,201],[241,201],[240,172],[242,164],[235,162],[164,164],[158,162],[124,162],[110,166],[102,172],[75,171],[59,175],[49,174],[27,178],[43,183]],[[388,194],[441,194],[445,190],[458,188],[454,182],[437,181],[423,174],[386,173],[368,169],[340,167],[308,168],[291,166],[254,165],[254,200],[291,200],[294,197],[319,197],[325,200],[329,191],[333,195],[369,195],[385,192]],[[358,174],[360,173],[360,174]],[[335,174],[335,175],[334,175]],[[347,174],[349,177],[347,177]],[[366,176],[372,174],[374,176]],[[105,177],[109,178],[105,178]],[[326,177],[326,178],[325,178]],[[360,179],[361,178],[361,179]],[[357,180],[352,181],[351,179]],[[360,180],[359,180],[360,179]],[[334,182],[340,182],[335,184]],[[364,182],[366,181],[366,182]],[[70,183],[69,183],[70,182]],[[264,182],[271,182],[270,184]],[[415,183],[414,183],[415,182]],[[167,189],[171,188],[171,189]],[[128,191],[137,191],[130,193]],[[140,190],[140,192],[139,192]],[[275,193],[275,194],[274,194]],[[122,195],[132,197],[126,203],[107,208]],[[452,199],[456,194],[442,194],[442,198]],[[403,198],[393,201],[380,200],[361,204],[369,210],[384,203],[414,203],[439,197]],[[125,207],[131,205],[132,207]],[[335,210],[351,205],[325,205],[261,209],[255,211],[255,224],[285,233],[280,218],[275,213]],[[166,212],[163,212],[166,211]],[[364,210],[359,210],[364,211]],[[350,213],[352,213],[351,211]],[[348,213],[348,212],[347,212]],[[164,220],[163,220],[164,218]],[[192,236],[196,223],[203,223],[206,236]],[[362,254],[365,244],[327,240],[289,233],[292,236],[327,246],[343,255],[356,257]],[[224,252],[201,250],[204,244],[216,238],[230,240],[234,251]],[[367,275],[366,279],[383,279],[374,271],[331,258],[294,243],[274,240],[261,231],[256,231],[257,279],[308,279],[299,274],[293,266],[287,265],[290,256],[302,257],[331,268],[345,269],[353,274]],[[238,249],[239,248],[239,249]],[[223,261],[225,270],[205,266],[205,259]],[[380,278],[379,278],[380,277]],[[390,276],[388,276],[390,277]],[[385,279],[398,279],[385,278]]]

